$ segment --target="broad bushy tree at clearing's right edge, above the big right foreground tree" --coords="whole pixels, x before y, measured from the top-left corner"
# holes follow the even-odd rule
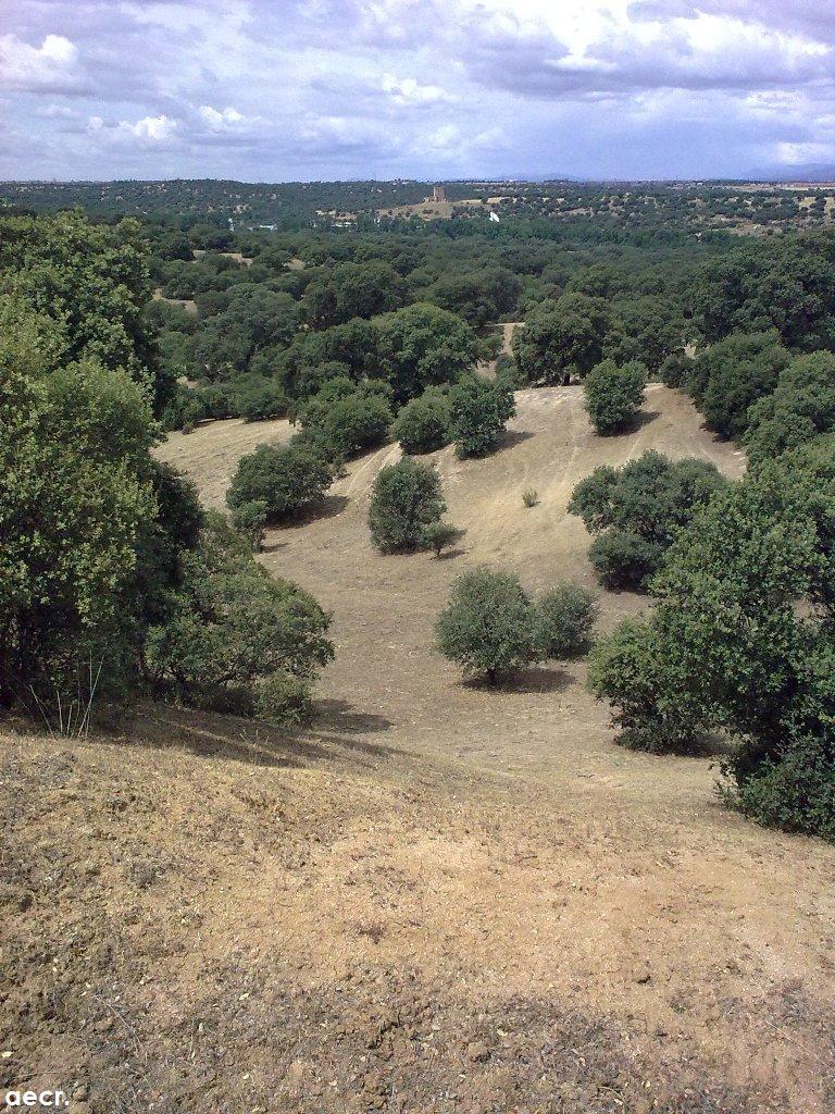
[[[645,589],[679,530],[725,485],[714,465],[674,462],[650,451],[620,469],[595,469],[577,485],[568,509],[600,535],[589,559],[601,583]]]

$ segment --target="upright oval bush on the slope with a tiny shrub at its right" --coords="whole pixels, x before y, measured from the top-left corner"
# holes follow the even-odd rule
[[[426,527],[446,509],[441,478],[429,465],[404,457],[381,469],[369,508],[374,545],[384,554],[410,553],[426,544]]]

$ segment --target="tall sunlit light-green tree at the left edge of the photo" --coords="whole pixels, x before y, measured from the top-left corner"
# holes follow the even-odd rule
[[[156,514],[145,392],[0,299],[0,705],[75,691],[79,667],[130,673],[138,549]],[[104,687],[104,686],[102,686]]]

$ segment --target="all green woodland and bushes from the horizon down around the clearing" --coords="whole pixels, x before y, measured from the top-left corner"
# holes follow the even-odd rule
[[[578,486],[601,585],[652,603],[598,642],[590,684],[623,745],[687,752],[723,733],[728,803],[835,839],[824,193],[485,184],[488,222],[459,212],[474,185],[451,184],[452,217],[430,222],[374,216],[421,183],[3,187],[2,706],[77,727],[143,694],[305,722],[331,618],[257,564],[266,525],[315,515],[346,461],[396,439],[407,456],[380,473],[372,538],[440,554],[454,525],[419,457],[493,452],[522,388],[582,383],[598,434],[618,436],[660,380],[748,471],[647,453]],[[35,212],[67,204],[90,217]],[[356,219],[332,228],[333,212]],[[776,234],[720,231],[740,219]],[[512,354],[502,322],[521,323]],[[295,433],[242,458],[229,515],[210,515],[151,448],[229,417],[288,417]],[[589,598],[531,600],[493,576],[456,585],[441,653],[494,681],[586,652]]]

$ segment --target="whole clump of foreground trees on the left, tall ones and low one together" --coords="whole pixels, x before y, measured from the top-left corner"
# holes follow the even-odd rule
[[[139,227],[0,224],[0,711],[77,734],[138,695],[298,722],[330,616],[156,462],[174,379]]]

